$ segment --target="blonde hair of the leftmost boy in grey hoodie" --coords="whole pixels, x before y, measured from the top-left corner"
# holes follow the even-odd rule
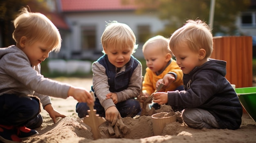
[[[53,51],[61,48],[61,35],[56,26],[43,14],[31,13],[27,8],[22,8],[16,19],[13,20],[15,30],[13,39],[18,44],[22,36],[27,37],[28,44],[40,41],[52,43]]]

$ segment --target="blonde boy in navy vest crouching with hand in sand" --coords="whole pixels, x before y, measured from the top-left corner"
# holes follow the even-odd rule
[[[128,25],[108,23],[101,37],[104,55],[92,64],[94,109],[112,124],[120,115],[135,117],[141,110],[135,100],[142,85],[141,63],[132,56],[137,48],[135,43],[136,37]],[[77,103],[80,118],[88,115],[87,110],[87,103]]]

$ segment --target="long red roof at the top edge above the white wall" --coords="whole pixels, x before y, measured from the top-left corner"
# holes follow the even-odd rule
[[[122,4],[122,0],[61,0],[61,5],[63,12],[136,9],[133,4]]]

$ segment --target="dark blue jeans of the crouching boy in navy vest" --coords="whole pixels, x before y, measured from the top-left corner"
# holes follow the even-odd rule
[[[121,117],[135,117],[141,110],[139,101],[135,99],[128,99],[126,101],[122,101],[116,104],[117,110],[119,111]],[[94,102],[94,109],[97,110],[97,114],[100,117],[105,118],[105,109],[101,106],[99,99],[96,99]],[[88,111],[90,110],[87,103],[77,103],[76,104],[76,112],[78,113],[79,118],[83,118],[88,115]]]

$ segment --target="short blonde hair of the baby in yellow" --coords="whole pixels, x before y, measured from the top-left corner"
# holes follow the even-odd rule
[[[164,36],[157,35],[148,39],[142,46],[142,52],[144,52],[149,45],[160,47],[159,50],[162,50],[163,53],[171,53],[171,51],[168,50],[168,39]]]

